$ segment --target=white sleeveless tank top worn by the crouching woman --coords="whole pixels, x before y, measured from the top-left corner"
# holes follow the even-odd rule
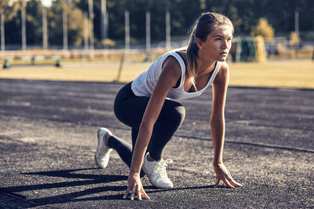
[[[207,85],[204,88],[202,88],[200,91],[186,92],[184,91],[184,81],[186,77],[186,64],[184,63],[184,60],[181,58],[181,56],[177,52],[172,50],[160,56],[160,58],[157,61],[155,61],[149,66],[149,69],[147,71],[142,72],[142,74],[139,75],[132,82],[131,88],[135,95],[146,96],[146,97],[151,96],[156,86],[159,75],[161,71],[163,70],[163,62],[165,61],[165,59],[167,59],[168,56],[174,56],[174,58],[177,59],[177,61],[179,62],[180,67],[181,67],[181,82],[180,82],[179,87],[170,88],[170,91],[167,93],[167,99],[183,100],[183,99],[193,98],[198,95],[201,95],[214,82],[214,79],[216,78],[216,75],[218,74],[220,70],[221,63],[217,61],[216,66],[214,68],[214,72],[212,73]]]

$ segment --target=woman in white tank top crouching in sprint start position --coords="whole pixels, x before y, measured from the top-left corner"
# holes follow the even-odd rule
[[[222,180],[228,187],[241,187],[223,164],[225,138],[225,98],[229,69],[225,59],[231,47],[232,22],[217,13],[204,13],[197,20],[185,51],[163,54],[130,84],[126,84],[114,101],[114,113],[119,121],[132,127],[133,146],[114,136],[110,130],[98,130],[95,160],[100,168],[107,166],[114,149],[128,167],[128,189],[139,200],[149,199],[140,177],[160,188],[173,187],[167,177],[167,161],[162,160],[163,148],[184,120],[185,109],[180,100],[200,95],[213,85],[211,136],[214,144],[215,185]],[[144,159],[144,160],[143,160]],[[169,163],[169,162],[168,162]],[[141,171],[142,169],[142,171]]]

